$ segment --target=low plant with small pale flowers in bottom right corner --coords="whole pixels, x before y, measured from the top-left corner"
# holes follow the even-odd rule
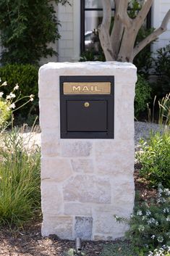
[[[116,220],[124,221],[115,216]],[[143,202],[135,207],[135,213],[127,220],[127,238],[135,247],[156,249],[163,244],[170,245],[170,190],[158,185],[156,202]]]

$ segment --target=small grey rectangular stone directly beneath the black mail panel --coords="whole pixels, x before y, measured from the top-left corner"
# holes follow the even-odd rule
[[[92,149],[92,142],[78,140],[62,140],[62,157],[88,157]]]

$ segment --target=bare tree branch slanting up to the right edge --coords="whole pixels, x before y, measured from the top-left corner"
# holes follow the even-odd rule
[[[170,20],[170,9],[166,13],[165,17],[163,18],[161,26],[135,46],[135,49],[133,51],[133,57],[135,57],[145,46],[147,46],[147,44],[149,44],[153,40],[156,40],[158,36],[160,36],[163,32],[167,30],[167,25],[169,20]]]

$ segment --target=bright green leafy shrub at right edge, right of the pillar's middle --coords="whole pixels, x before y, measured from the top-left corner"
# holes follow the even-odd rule
[[[146,178],[151,186],[162,183],[170,189],[170,132],[151,133],[147,142],[141,140],[140,145],[143,151],[137,153],[137,160],[142,165],[140,175]]]

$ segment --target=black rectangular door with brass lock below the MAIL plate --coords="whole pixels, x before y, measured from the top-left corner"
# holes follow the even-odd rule
[[[107,131],[107,101],[67,101],[67,131]]]

